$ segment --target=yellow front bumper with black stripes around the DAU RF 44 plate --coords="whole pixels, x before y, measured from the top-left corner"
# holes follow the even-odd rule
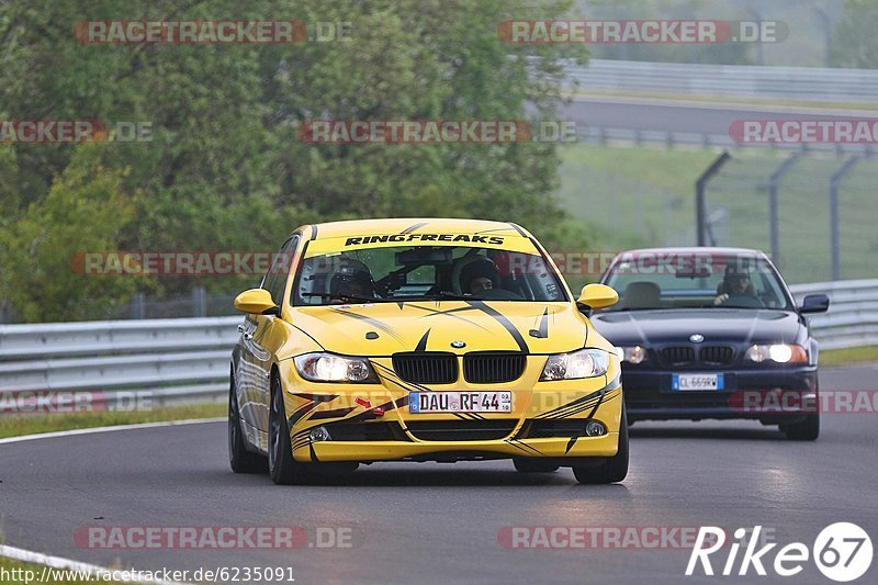
[[[526,371],[514,384],[454,387],[510,391],[513,412],[492,414],[412,413],[409,392],[423,389],[384,373],[381,384],[361,386],[308,383],[290,370],[282,374],[293,382],[284,401],[296,461],[570,459],[612,457],[618,451],[618,365],[606,376],[587,380],[539,383],[539,372]],[[586,436],[589,420],[604,424],[607,432]],[[313,432],[320,427],[325,432]],[[320,435],[324,440],[317,440]]]

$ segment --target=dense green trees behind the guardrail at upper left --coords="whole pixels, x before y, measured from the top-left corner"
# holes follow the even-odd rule
[[[101,244],[120,249],[271,250],[300,224],[407,215],[510,220],[578,247],[584,230],[565,224],[551,195],[554,144],[313,146],[297,138],[300,125],[314,119],[554,120],[561,59],[584,60],[585,50],[510,45],[497,25],[569,10],[569,0],[0,3],[0,103],[9,119],[151,124],[151,142],[101,149],[100,172],[119,179],[121,193],[138,194],[128,228],[119,230],[112,217],[80,218],[104,237]],[[350,40],[89,45],[74,37],[75,23],[106,19],[344,22]],[[22,221],[54,232],[50,222],[60,215],[41,217],[38,210],[81,148],[0,146],[12,151],[9,172],[0,155],[0,229]],[[31,269],[0,257],[0,271]],[[130,280],[127,290],[144,284]],[[230,292],[255,280],[167,278],[157,291],[202,284]],[[123,292],[106,289],[104,304],[124,301]]]

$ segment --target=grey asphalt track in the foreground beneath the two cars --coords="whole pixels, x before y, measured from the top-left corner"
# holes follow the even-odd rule
[[[878,389],[878,365],[825,369],[821,386]],[[718,578],[684,580],[690,549],[507,549],[498,533],[762,525],[781,545],[810,547],[825,526],[853,521],[876,540],[876,416],[824,416],[815,443],[757,423],[640,423],[629,477],[610,486],[577,485],[570,470],[517,474],[500,461],[374,464],[327,485],[280,487],[229,471],[221,423],[41,439],[0,446],[0,522],[14,547],[149,571],[288,566],[296,583],[707,583]],[[90,526],[296,526],[312,539],[322,527],[349,530],[351,547],[80,548],[75,531]],[[723,552],[714,567],[724,561]],[[831,583],[813,563],[789,580],[751,570],[721,581]]]

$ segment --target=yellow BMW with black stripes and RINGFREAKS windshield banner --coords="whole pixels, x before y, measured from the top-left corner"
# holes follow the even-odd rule
[[[628,473],[616,348],[521,227],[475,220],[307,225],[283,244],[232,356],[232,469],[275,483],[376,461],[511,459]]]

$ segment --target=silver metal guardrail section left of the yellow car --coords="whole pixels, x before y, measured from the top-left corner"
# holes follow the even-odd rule
[[[92,407],[224,400],[241,317],[0,325],[0,393],[89,393]],[[0,404],[0,406],[2,406]],[[2,414],[3,408],[0,408]]]

